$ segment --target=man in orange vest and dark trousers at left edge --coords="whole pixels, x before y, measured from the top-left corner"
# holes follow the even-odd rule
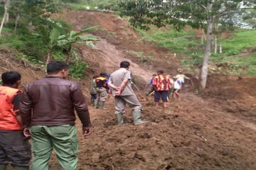
[[[16,71],[2,74],[0,86],[0,170],[8,163],[15,170],[29,170],[31,146],[24,139],[19,110],[22,91],[18,89],[21,76]]]

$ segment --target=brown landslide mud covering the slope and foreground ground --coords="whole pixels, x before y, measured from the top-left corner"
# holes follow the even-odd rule
[[[149,121],[132,125],[127,109],[125,124],[117,126],[113,97],[106,103],[107,110],[90,107],[93,133],[83,138],[77,121],[79,170],[256,170],[255,77],[210,75],[207,89],[200,95],[186,82],[181,101],[171,100],[166,111],[156,109],[153,97],[146,96],[148,89],[143,87],[159,68],[176,74],[180,62],[172,51],[138,41],[141,37],[111,13],[68,11],[57,17],[73,23],[77,30],[101,27],[92,33],[101,38],[95,44],[97,49],[78,46],[89,63],[86,75],[112,72],[120,61],[129,60],[141,89],[137,94],[144,108],[143,119]],[[154,54],[155,60],[142,63],[131,51]],[[17,61],[9,62],[22,72],[24,84],[44,76],[34,68],[25,70]],[[1,73],[4,68],[14,69],[3,62],[0,66]],[[188,74],[196,84],[196,75]],[[87,97],[88,80],[80,81]],[[54,154],[50,166],[51,170],[60,169]]]

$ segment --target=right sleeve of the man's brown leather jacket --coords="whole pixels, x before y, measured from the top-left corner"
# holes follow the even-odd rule
[[[70,91],[73,106],[76,109],[76,113],[81,123],[83,124],[83,128],[90,128],[92,126],[90,123],[90,114],[81,88],[77,83],[73,83],[73,85],[70,86]]]

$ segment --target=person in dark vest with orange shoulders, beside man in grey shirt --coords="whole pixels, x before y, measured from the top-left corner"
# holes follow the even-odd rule
[[[108,83],[106,81],[107,74],[101,73],[96,81],[97,98],[94,104],[94,108],[105,109],[104,104],[108,99]]]

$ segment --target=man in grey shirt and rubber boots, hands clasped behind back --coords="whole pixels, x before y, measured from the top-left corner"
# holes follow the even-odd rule
[[[134,125],[146,123],[146,121],[141,120],[142,105],[132,89],[131,72],[128,71],[129,68],[129,62],[121,62],[120,68],[111,74],[110,81],[108,82],[108,85],[113,88],[118,125],[123,124],[123,114],[125,113],[126,103],[133,110]]]

